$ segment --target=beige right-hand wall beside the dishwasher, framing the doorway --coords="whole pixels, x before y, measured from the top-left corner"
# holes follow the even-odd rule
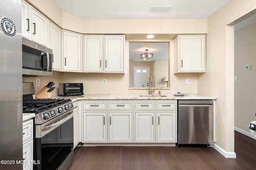
[[[216,96],[216,145],[234,152],[234,26],[256,9],[256,1],[229,1],[208,18],[206,73],[198,75],[198,94]]]

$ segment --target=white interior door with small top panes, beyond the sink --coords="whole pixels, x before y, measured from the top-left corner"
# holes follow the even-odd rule
[[[134,88],[148,87],[150,67],[134,66]]]

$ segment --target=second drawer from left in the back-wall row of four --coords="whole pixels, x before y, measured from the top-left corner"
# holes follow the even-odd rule
[[[109,101],[108,110],[133,110],[133,101]]]

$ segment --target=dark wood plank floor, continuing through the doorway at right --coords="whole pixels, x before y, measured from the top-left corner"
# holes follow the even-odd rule
[[[236,158],[211,147],[76,147],[69,170],[256,170],[256,140],[235,131]]]

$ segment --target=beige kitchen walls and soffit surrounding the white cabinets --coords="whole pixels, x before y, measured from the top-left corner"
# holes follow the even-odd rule
[[[208,19],[81,19],[70,14],[49,12],[50,1],[30,0],[64,29],[79,33],[100,34],[202,34],[206,35],[206,73],[173,74],[170,68],[170,90],[162,94],[190,92],[216,96],[216,144],[227,152],[234,152],[234,28],[229,23],[256,8],[255,0],[231,0]],[[141,23],[150,23],[147,29]],[[170,40],[170,67],[173,61]],[[129,46],[126,41],[125,74],[82,74],[54,72],[52,78],[60,82],[85,82],[86,94],[143,94],[147,90],[129,90]],[[102,78],[107,84],[102,85]],[[192,84],[185,85],[185,78]],[[40,78],[45,80],[46,78]],[[26,78],[24,81],[34,81]],[[47,82],[47,81],[46,81]],[[42,84],[41,84],[42,86]]]

